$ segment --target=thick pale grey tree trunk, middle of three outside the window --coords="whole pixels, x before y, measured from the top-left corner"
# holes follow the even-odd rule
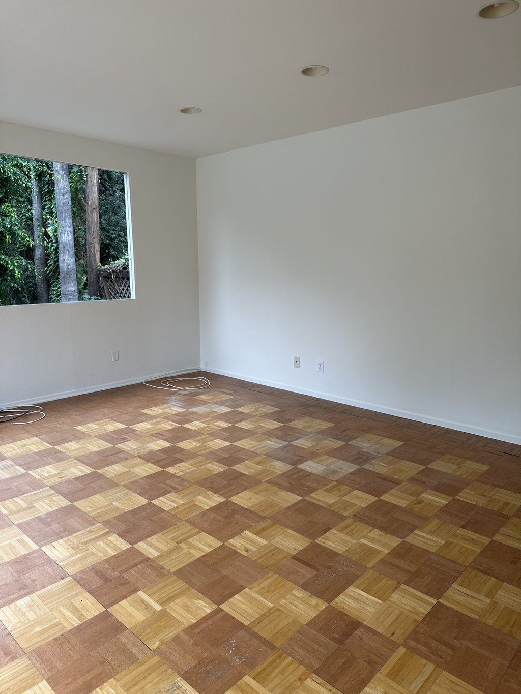
[[[78,301],[74,232],[72,229],[71,187],[69,165],[53,162],[56,216],[58,217],[58,257],[60,262],[60,294],[62,301]]]

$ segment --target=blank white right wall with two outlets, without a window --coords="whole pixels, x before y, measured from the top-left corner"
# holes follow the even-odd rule
[[[516,87],[199,159],[201,363],[521,443],[520,112]]]

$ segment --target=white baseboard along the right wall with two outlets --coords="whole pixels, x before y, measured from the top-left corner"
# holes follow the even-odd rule
[[[351,400],[350,398],[344,398],[343,396],[335,395],[333,393],[322,393],[320,391],[313,391],[306,388],[298,388],[296,386],[290,386],[286,383],[279,383],[276,381],[268,381],[264,379],[254,378],[253,376],[247,376],[241,373],[222,371],[222,369],[213,369],[212,367],[210,367],[210,369],[208,369],[208,372],[217,373],[222,376],[229,376],[230,378],[238,378],[239,380],[249,381],[250,383],[258,383],[263,386],[280,388],[281,390],[291,391],[292,393],[301,393],[302,395],[313,396],[313,398],[320,398],[321,400],[332,400],[333,403],[341,403],[342,405],[352,405],[352,407],[362,407],[363,409],[370,409],[373,412],[383,412],[383,414],[393,414],[397,417],[403,417],[404,419],[413,419],[417,422],[435,424],[438,427],[443,427],[445,429],[455,429],[456,431],[465,432],[466,434],[477,434],[477,436],[483,436],[488,439],[499,439],[499,441],[517,443],[519,446],[521,446],[521,436],[517,436],[515,434],[497,432],[491,429],[482,429],[480,427],[474,427],[470,424],[452,422],[447,419],[438,419],[437,417],[431,417],[425,414],[418,414],[417,412],[407,412],[403,409],[385,407],[384,405],[364,403],[362,400]]]

